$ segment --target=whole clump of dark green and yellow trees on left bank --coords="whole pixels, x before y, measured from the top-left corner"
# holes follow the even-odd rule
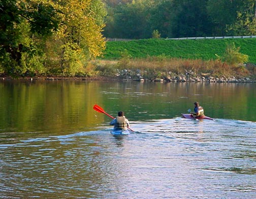
[[[83,72],[102,54],[101,0],[2,0],[0,68],[10,75]]]

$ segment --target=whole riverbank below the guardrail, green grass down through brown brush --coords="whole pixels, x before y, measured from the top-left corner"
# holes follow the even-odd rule
[[[235,49],[239,48],[239,53],[248,55],[246,65],[221,61],[230,44],[234,44]],[[94,69],[98,71],[98,75],[149,80],[188,78],[187,74],[193,77],[193,81],[202,79],[205,74],[214,78],[254,78],[256,75],[255,52],[256,38],[141,39],[129,42],[107,42],[104,58],[95,62],[97,66]]]

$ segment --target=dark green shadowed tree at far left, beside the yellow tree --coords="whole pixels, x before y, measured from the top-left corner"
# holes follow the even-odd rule
[[[48,2],[16,0],[2,0],[0,10],[0,66],[10,75],[29,72],[39,53],[33,34],[56,31],[57,11]]]

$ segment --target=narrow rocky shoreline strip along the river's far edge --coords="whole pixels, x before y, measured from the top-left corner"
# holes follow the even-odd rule
[[[150,76],[150,77],[148,77]],[[184,74],[161,73],[161,77],[155,74],[141,72],[139,69],[132,71],[130,69],[118,70],[114,76],[35,76],[12,78],[10,76],[0,77],[0,81],[24,80],[24,81],[137,81],[137,82],[181,82],[181,83],[256,83],[255,78],[251,77],[213,77],[210,73],[201,73],[195,75],[193,71],[186,71]]]

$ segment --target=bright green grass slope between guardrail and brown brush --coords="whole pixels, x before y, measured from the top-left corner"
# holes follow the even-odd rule
[[[216,59],[221,56],[228,44],[240,47],[240,52],[249,56],[250,63],[256,63],[256,38],[237,39],[140,39],[129,42],[107,42],[104,59],[119,59],[121,55],[132,58],[148,56],[170,56],[184,59]],[[126,52],[126,53],[124,53]]]

